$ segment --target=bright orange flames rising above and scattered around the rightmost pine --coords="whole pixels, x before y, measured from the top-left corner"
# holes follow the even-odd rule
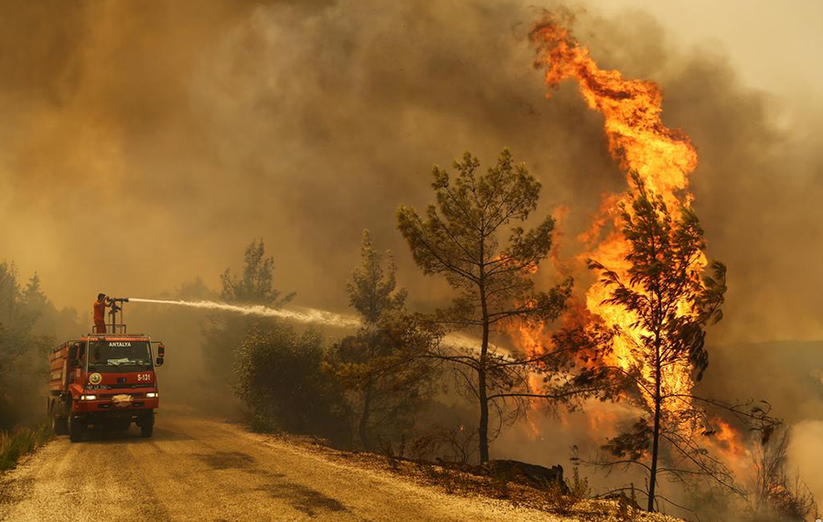
[[[576,81],[583,100],[593,111],[604,116],[604,133],[612,156],[625,172],[629,186],[631,175],[636,173],[654,196],[661,197],[674,217],[681,205],[689,205],[689,175],[698,165],[698,155],[685,133],[670,129],[661,120],[663,93],[657,83],[649,80],[626,80],[616,70],[600,69],[591,58],[589,49],[582,47],[564,27],[564,20],[549,16],[535,26],[530,33],[532,43],[538,49],[535,66],[545,70],[545,82],[550,88],[561,81]],[[550,96],[550,94],[547,94]],[[631,211],[626,205],[630,197],[623,194],[604,194],[601,204],[592,218],[591,227],[577,237],[583,246],[583,253],[577,261],[595,259],[610,270],[615,271],[622,281],[628,281],[630,265],[625,260],[631,245],[620,232],[621,207]],[[569,209],[561,208],[556,213],[558,224],[562,224]],[[570,272],[567,264],[559,259],[551,260],[560,272]],[[701,256],[696,262],[695,273],[700,273],[708,264]],[[639,368],[648,383],[654,382],[654,368],[635,349],[641,346],[642,336],[647,334],[634,326],[636,315],[623,307],[606,304],[611,290],[601,282],[593,282],[582,300],[572,302],[571,313],[563,317],[565,325],[588,325],[602,321],[609,329],[618,329],[614,349],[606,364],[629,370]],[[694,303],[682,302],[678,314],[692,314]],[[516,345],[527,353],[546,351],[550,337],[546,325],[518,324],[510,327],[509,334]],[[530,381],[531,385],[537,382]],[[684,362],[663,369],[662,387],[666,394],[689,395],[694,382],[691,368]],[[653,398],[644,394],[647,406],[652,406]],[[686,414],[689,402],[669,400],[664,403],[664,412],[671,420],[683,423],[686,430],[695,430],[699,424]],[[588,410],[588,421],[592,432],[602,432],[614,428],[617,412],[595,407]],[[678,422],[675,421],[675,422]],[[688,423],[688,425],[687,425]],[[751,453],[743,445],[743,437],[728,423],[714,419],[716,430],[708,442],[716,451],[738,466],[750,462]],[[535,436],[536,425],[529,423],[528,430]]]

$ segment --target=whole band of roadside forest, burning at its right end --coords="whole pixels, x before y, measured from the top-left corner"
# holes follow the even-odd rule
[[[134,304],[130,323],[163,333],[172,360],[178,358],[168,368],[167,397],[240,416],[257,431],[456,469],[503,462],[492,458],[493,442],[536,416],[561,419],[623,403],[631,418],[619,421],[596,451],[581,453],[575,445],[570,455],[556,455],[574,467],[565,479],[561,472],[555,497],[593,495],[580,478],[588,470],[620,477],[597,495],[619,495],[631,509],[642,499],[648,511],[668,506],[697,514],[688,504],[701,503],[702,516],[706,506],[725,506],[747,520],[815,513],[813,495],[786,468],[789,431],[766,398],[700,396],[693,389],[711,372],[706,332],[722,318],[726,290],[725,266],[704,261],[693,209],[669,208],[633,176],[619,216],[627,269],[588,261],[607,289],[604,304],[634,317],[630,328],[610,327],[575,303],[572,277],[536,286],[533,275],[551,264],[555,219],[540,212],[541,185],[528,166],[508,149],[485,172],[468,152],[452,166],[433,167],[433,202],[423,212],[401,205],[396,216],[414,261],[444,279],[451,302],[410,309],[392,253],[381,252],[363,230],[359,259],[352,256],[350,277],[340,282],[358,317],[355,332]],[[251,240],[239,266],[220,274],[219,289],[195,277],[160,297],[267,309],[297,298],[283,289],[288,277],[275,272],[264,240]],[[23,283],[15,265],[4,262],[0,274],[0,421],[5,431],[42,437],[44,428],[20,427],[42,425],[46,355],[58,339],[82,332],[82,315],[58,310],[37,273]],[[539,333],[540,342],[519,344],[524,331]],[[615,356],[625,344],[633,357],[627,365]],[[5,435],[6,445],[10,440]],[[751,462],[740,462],[734,445],[753,441]],[[750,466],[754,475],[735,476]]]

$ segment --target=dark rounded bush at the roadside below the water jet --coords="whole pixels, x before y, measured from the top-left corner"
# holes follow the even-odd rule
[[[234,391],[258,425],[340,442],[347,437],[348,411],[343,390],[320,371],[323,356],[323,339],[313,330],[258,327],[237,351]]]

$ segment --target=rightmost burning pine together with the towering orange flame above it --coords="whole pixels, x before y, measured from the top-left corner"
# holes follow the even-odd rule
[[[591,354],[605,354],[604,368],[610,371],[588,373],[612,380],[615,391],[624,389],[618,397],[628,396],[646,411],[633,430],[606,444],[611,458],[598,463],[643,467],[648,509],[653,510],[660,474],[676,479],[709,474],[734,487],[728,468],[698,443],[718,422],[695,404],[725,410],[761,430],[764,438],[776,421],[768,416],[767,406],[692,395],[695,378],[700,379],[708,365],[704,327],[721,318],[725,292],[722,264],[714,263],[712,276],[702,277],[707,268],[703,232],[683,203],[691,200],[689,174],[698,165],[698,154],[686,133],[663,123],[661,87],[601,69],[572,35],[572,18],[546,13],[532,27],[535,67],[544,69],[552,89],[564,80],[577,82],[587,106],[603,114],[609,151],[635,190],[628,197],[604,195],[593,228],[582,236],[587,257],[597,260],[590,268],[601,276],[585,293],[588,316],[554,340],[577,346],[585,365],[592,364]],[[605,229],[610,233],[601,234]],[[599,365],[595,361],[593,366]],[[658,466],[661,456],[665,467]]]

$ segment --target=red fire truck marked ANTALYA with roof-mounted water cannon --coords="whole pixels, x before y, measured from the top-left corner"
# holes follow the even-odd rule
[[[48,354],[48,415],[55,432],[68,433],[71,442],[91,428],[125,431],[132,422],[144,437],[154,430],[160,404],[155,368],[163,365],[166,347],[150,336],[126,333],[123,303],[128,298],[112,301],[112,324],[106,327],[112,334],[87,334]]]

